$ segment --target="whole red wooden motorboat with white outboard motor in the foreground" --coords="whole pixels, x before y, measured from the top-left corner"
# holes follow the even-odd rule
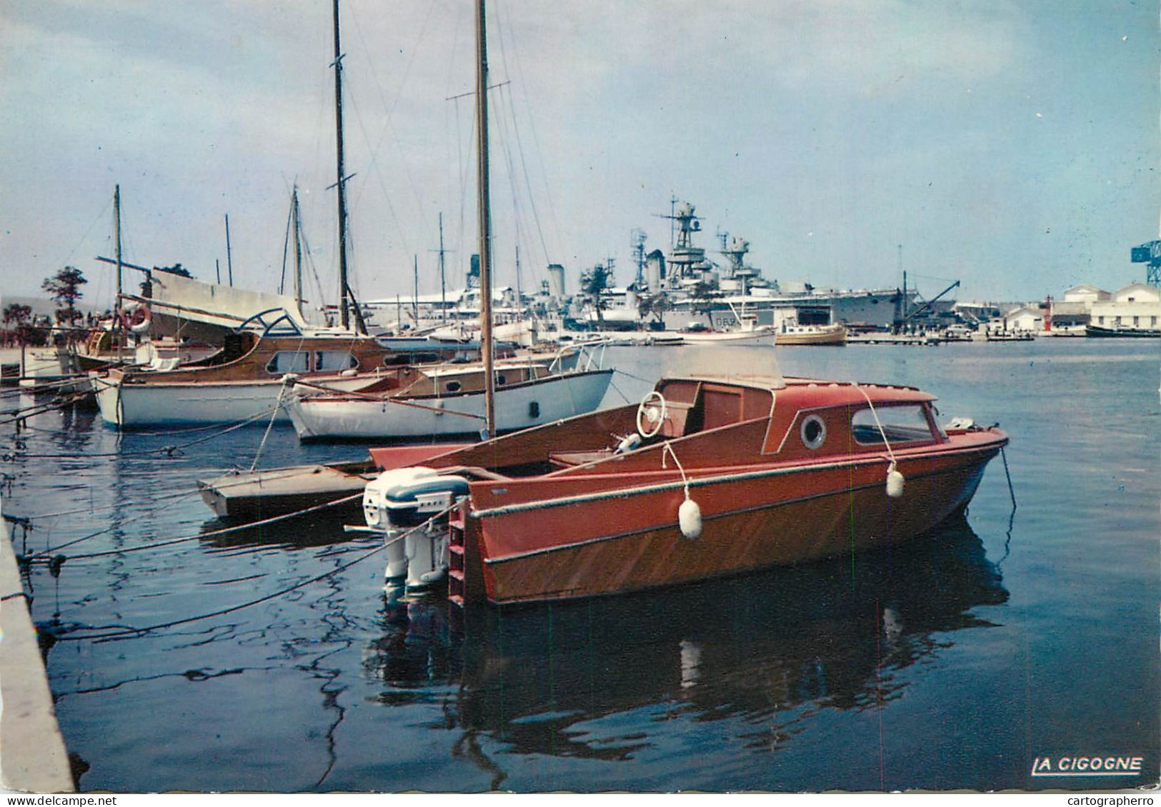
[[[423,582],[442,579],[446,556],[457,603],[616,595],[882,547],[960,511],[1008,442],[940,427],[933,401],[777,370],[668,376],[640,405],[419,463],[413,447],[373,449],[394,470],[368,485],[365,514],[390,541],[450,507],[420,533],[435,542]]]

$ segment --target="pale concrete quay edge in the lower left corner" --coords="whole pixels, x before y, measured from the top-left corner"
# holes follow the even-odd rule
[[[0,786],[27,793],[74,792],[36,627],[28,610],[8,521],[3,518],[0,518],[0,702],[3,705]]]

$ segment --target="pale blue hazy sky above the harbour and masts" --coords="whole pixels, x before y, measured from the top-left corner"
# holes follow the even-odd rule
[[[567,9],[567,10],[565,10]],[[344,0],[352,265],[360,296],[439,289],[475,239],[470,0]],[[489,5],[495,254],[547,262],[750,240],[766,276],[1034,300],[1144,279],[1161,194],[1155,2],[686,0]],[[125,258],[275,288],[297,182],[336,291],[329,0],[0,5],[0,294],[66,264],[111,301]],[[899,245],[902,245],[900,251]],[[418,258],[416,258],[418,257]],[[713,255],[716,258],[716,255]],[[313,272],[311,273],[311,275]],[[289,286],[289,281],[287,281]],[[315,280],[308,280],[315,289]],[[318,293],[311,294],[318,298]]]

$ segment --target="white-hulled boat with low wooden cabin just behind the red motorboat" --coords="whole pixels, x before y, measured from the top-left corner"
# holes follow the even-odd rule
[[[497,434],[539,426],[597,409],[612,369],[549,361],[495,366]],[[413,441],[478,437],[485,425],[481,365],[399,368],[352,391],[296,384],[287,413],[302,440]]]

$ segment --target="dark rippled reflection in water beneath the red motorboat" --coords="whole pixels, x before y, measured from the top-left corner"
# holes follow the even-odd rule
[[[579,725],[652,705],[742,719],[770,749],[809,714],[900,697],[895,673],[953,641],[935,634],[988,626],[973,608],[1007,599],[958,516],[903,547],[629,597],[449,613],[388,596],[363,665],[385,706],[457,685],[448,720],[477,751],[483,734],[513,754],[628,758],[654,744],[649,719],[613,737]]]

